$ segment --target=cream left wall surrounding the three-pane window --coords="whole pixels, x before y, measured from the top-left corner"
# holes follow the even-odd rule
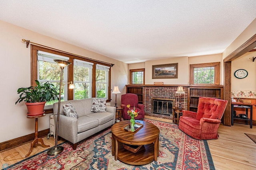
[[[86,49],[58,41],[51,37],[29,31],[22,27],[0,21],[0,66],[2,89],[0,103],[0,142],[34,133],[35,119],[26,118],[27,109],[24,102],[15,105],[18,100],[17,90],[20,87],[30,86],[30,45],[21,39],[27,39],[55,49],[60,49],[91,59],[115,64],[111,68],[111,86],[118,86],[121,94],[125,94],[125,85],[128,84],[128,64],[93,53]],[[120,105],[121,94],[117,96]],[[111,94],[114,106],[115,94]],[[38,119],[38,130],[49,128],[49,114]]]

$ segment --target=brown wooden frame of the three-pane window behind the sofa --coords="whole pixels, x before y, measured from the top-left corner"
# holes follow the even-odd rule
[[[109,66],[109,74],[108,74],[108,99],[107,102],[111,101],[111,64],[106,64],[106,63],[101,63],[99,61],[94,61],[90,59],[86,59],[83,57],[79,57],[76,55],[71,55],[68,53],[63,53],[60,51],[56,51],[53,49],[48,49],[44,47],[40,47],[37,45],[30,45],[30,73],[31,73],[31,86],[36,86],[35,80],[37,80],[37,51],[45,51],[48,53],[56,54],[56,55],[61,55],[64,57],[69,57],[69,62],[72,63],[68,65],[68,82],[73,81],[73,67],[74,67],[74,59],[82,60],[82,61],[88,61],[90,63],[94,63],[93,68],[92,68],[92,98],[96,98],[96,64],[101,64],[105,66]],[[74,90],[73,89],[68,89],[68,100],[73,100],[74,99]],[[52,113],[52,109],[46,109],[46,113]]]

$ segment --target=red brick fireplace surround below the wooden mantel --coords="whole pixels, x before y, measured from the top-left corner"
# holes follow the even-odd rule
[[[152,109],[153,103],[152,99],[156,98],[158,100],[172,100],[172,107],[178,106],[179,96],[175,94],[178,86],[144,86],[143,87],[143,104],[145,105],[144,111],[148,113],[153,113]],[[182,107],[186,110],[188,109],[188,87],[183,87],[185,94],[181,96],[180,102]],[[172,110],[172,109],[171,109]],[[169,108],[170,112],[170,108]]]

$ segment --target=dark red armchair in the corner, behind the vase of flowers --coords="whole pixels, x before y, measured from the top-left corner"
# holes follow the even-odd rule
[[[127,113],[129,109],[128,107],[126,107],[126,105],[128,104],[130,104],[130,109],[133,109],[133,107],[135,106],[135,108],[139,111],[138,116],[134,117],[134,119],[143,120],[145,116],[145,112],[144,112],[145,106],[144,104],[139,104],[138,96],[136,94],[131,94],[131,93],[123,94],[121,96],[121,107],[124,107],[124,109],[122,109],[122,117],[124,117],[124,119],[131,119],[131,117]]]

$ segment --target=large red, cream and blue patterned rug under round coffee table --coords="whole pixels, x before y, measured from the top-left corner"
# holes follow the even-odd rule
[[[144,119],[160,129],[159,157],[143,166],[133,166],[114,160],[111,128],[78,143],[73,150],[69,142],[64,151],[48,156],[47,150],[26,158],[4,170],[214,170],[207,141],[198,141],[180,131],[172,123]]]

